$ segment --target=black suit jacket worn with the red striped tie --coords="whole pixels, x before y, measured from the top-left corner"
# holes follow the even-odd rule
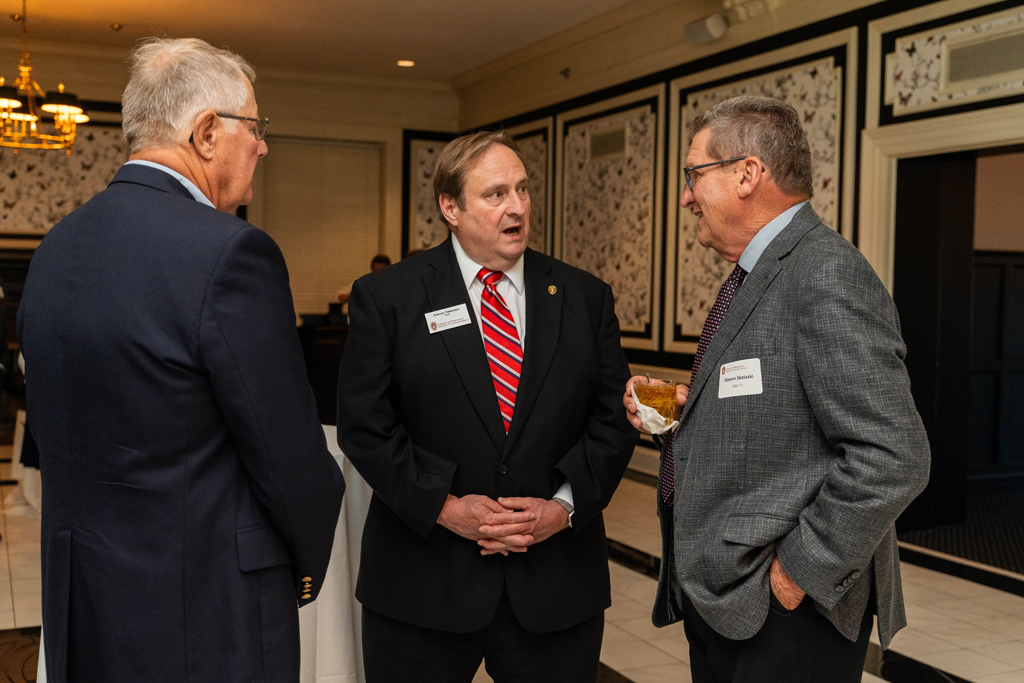
[[[637,433],[611,289],[527,250],[526,342],[506,435],[473,324],[428,334],[424,313],[465,303],[449,239],[356,281],[341,364],[339,441],[374,489],[356,597],[450,632],[480,629],[503,586],[528,630],[565,629],[610,604],[601,510]],[[449,494],[550,499],[568,479],[575,527],[526,553],[482,557],[436,524]]]

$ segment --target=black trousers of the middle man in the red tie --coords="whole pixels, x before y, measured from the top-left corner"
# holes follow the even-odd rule
[[[516,620],[508,593],[490,624],[449,633],[362,608],[367,683],[470,683],[480,660],[495,683],[595,683],[604,614],[551,633],[530,633]]]

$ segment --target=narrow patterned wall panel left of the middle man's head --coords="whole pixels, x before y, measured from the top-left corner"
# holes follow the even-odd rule
[[[406,137],[406,233],[402,252],[430,249],[444,242],[447,225],[434,205],[434,164],[454,135],[444,133]]]

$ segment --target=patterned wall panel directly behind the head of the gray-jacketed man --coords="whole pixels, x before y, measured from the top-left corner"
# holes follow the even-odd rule
[[[801,121],[811,147],[813,187],[811,206],[826,225],[839,228],[841,219],[840,196],[843,186],[844,139],[844,79],[842,51],[834,54],[819,53],[807,60],[795,59],[782,69],[769,68],[756,75],[734,80],[723,79],[712,87],[683,85],[692,79],[680,79],[673,84],[673,100],[678,102],[678,125],[674,137],[678,139],[677,168],[673,176],[675,200],[681,197],[685,179],[682,167],[686,165],[691,135],[691,121],[714,104],[737,95],[774,97],[793,105]],[[777,63],[777,62],[776,62]],[[750,72],[748,72],[750,73]],[[715,303],[718,290],[733,269],[714,250],[697,242],[697,221],[693,214],[680,208],[677,219],[670,227],[674,234],[669,240],[669,267],[666,282],[670,283],[666,311],[671,324],[666,330],[666,349],[694,352],[705,318]]]

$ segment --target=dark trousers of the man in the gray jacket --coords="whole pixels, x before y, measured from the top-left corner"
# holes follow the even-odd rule
[[[870,610],[857,642],[848,640],[810,597],[786,610],[771,595],[768,618],[749,640],[730,640],[681,595],[693,683],[859,683],[871,635]]]

